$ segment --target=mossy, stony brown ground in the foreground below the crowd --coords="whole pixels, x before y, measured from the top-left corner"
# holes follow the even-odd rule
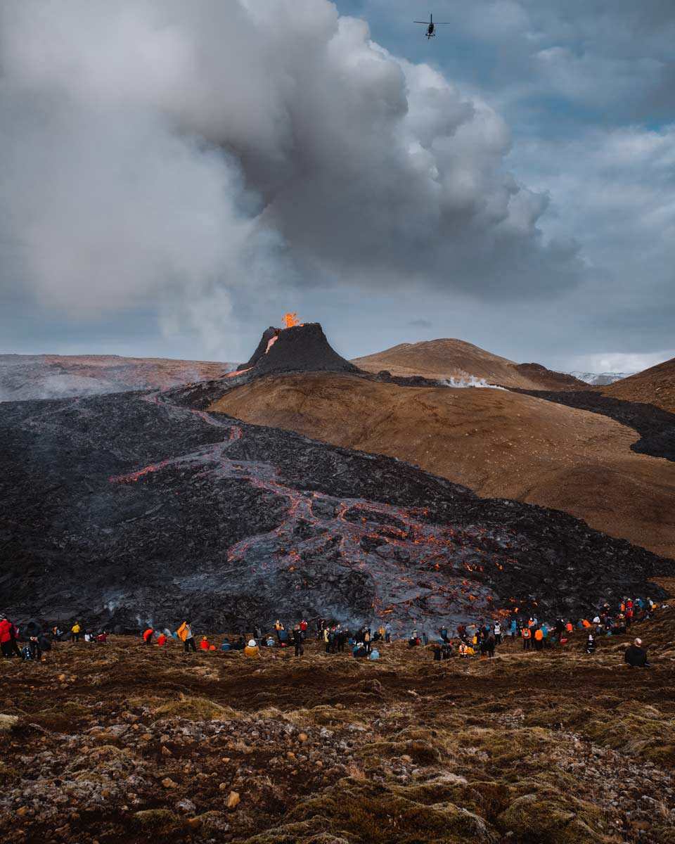
[[[0,661],[15,844],[672,844],[675,609],[564,652],[435,663],[138,639]],[[219,640],[216,640],[219,641]]]

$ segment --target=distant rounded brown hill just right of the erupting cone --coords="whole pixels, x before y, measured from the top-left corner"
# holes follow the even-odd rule
[[[388,370],[396,376],[427,378],[475,376],[491,384],[525,390],[580,389],[586,385],[573,376],[552,372],[539,364],[516,364],[464,340],[452,338],[423,343],[402,343],[352,361],[367,372]]]

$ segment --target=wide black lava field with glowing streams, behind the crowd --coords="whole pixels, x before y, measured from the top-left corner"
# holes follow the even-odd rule
[[[17,618],[220,629],[586,613],[675,569],[559,511],[136,393],[0,406],[0,552]]]

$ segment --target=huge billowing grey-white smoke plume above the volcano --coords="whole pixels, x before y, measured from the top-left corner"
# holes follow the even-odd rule
[[[327,0],[4,3],[0,67],[7,297],[221,337],[279,279],[576,282],[500,117]]]

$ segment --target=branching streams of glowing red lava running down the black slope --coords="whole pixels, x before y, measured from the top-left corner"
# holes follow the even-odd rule
[[[155,403],[162,399],[148,397]],[[188,454],[153,463],[111,478],[128,484],[148,480],[171,468],[190,468],[192,477],[214,484],[238,479],[288,505],[277,527],[247,537],[229,548],[228,565],[239,564],[256,578],[280,577],[285,590],[351,588],[370,595],[370,612],[380,617],[396,613],[408,625],[424,619],[476,619],[494,615],[494,595],[469,572],[501,568],[512,534],[482,527],[451,527],[427,521],[424,508],[402,508],[363,499],[338,499],[316,491],[296,490],[280,479],[278,468],[262,461],[228,455],[242,430],[230,420],[204,411],[165,404],[172,414],[195,415],[208,425],[228,430],[228,437]],[[497,554],[495,552],[501,552]],[[216,572],[217,576],[217,572]],[[346,584],[346,585],[345,585]],[[251,588],[255,587],[251,585]],[[347,603],[348,597],[344,598]]]

